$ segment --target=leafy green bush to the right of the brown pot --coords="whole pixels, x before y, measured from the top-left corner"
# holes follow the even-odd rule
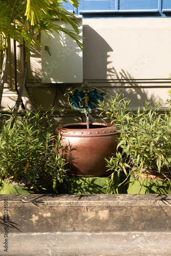
[[[166,176],[171,174],[171,100],[167,99],[167,103],[164,112],[159,102],[154,103],[155,108],[145,102],[145,106],[134,111],[129,107],[130,100],[118,94],[104,105],[99,103],[100,116],[115,124],[119,132],[118,151],[106,159],[109,170],[113,170],[108,183],[110,193],[116,193],[130,176],[136,180],[143,172],[162,174],[171,184]],[[116,185],[114,175],[118,179],[124,175],[125,179]]]

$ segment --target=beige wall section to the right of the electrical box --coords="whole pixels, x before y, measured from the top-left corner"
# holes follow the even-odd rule
[[[136,108],[144,100],[165,105],[171,70],[170,18],[84,19],[83,74]]]

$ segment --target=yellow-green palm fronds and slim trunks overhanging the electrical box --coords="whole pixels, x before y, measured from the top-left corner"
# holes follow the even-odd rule
[[[78,0],[69,0],[69,2],[74,7],[78,7]],[[0,72],[0,108],[9,62],[10,40],[14,39],[26,47],[22,80],[19,89],[16,90],[18,97],[14,106],[15,111],[19,108],[25,88],[30,47],[34,48],[35,51],[37,47],[40,47],[41,31],[44,31],[49,37],[52,36],[51,33],[53,32],[57,32],[59,35],[65,33],[73,38],[81,49],[83,48],[82,36],[79,35],[77,15],[65,10],[61,0],[0,0],[0,6],[0,55],[3,55]],[[55,19],[70,24],[72,29],[54,24]]]

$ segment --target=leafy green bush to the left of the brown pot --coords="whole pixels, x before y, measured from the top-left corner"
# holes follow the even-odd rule
[[[1,180],[12,179],[32,187],[47,181],[54,189],[57,181],[62,182],[65,161],[58,151],[60,136],[52,133],[53,111],[42,113],[39,107],[18,115],[11,109],[2,115],[8,120],[0,126]]]

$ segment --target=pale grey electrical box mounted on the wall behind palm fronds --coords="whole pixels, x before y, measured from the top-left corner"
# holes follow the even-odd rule
[[[61,20],[54,23],[73,30]],[[82,36],[81,18],[79,31]],[[83,81],[82,65],[82,50],[69,35],[53,32],[48,36],[41,32],[42,83],[80,83]]]

